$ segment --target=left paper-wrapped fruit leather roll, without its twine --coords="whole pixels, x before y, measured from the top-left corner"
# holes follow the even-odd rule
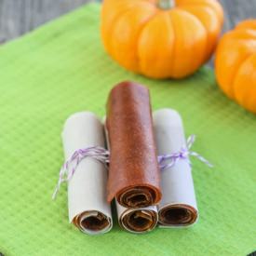
[[[97,116],[89,112],[71,115],[63,128],[66,160],[76,150],[104,147],[104,129]],[[97,235],[112,228],[110,204],[106,200],[107,169],[94,158],[84,158],[68,182],[69,221],[82,232]]]

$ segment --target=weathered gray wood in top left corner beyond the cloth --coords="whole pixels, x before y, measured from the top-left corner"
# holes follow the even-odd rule
[[[0,0],[0,43],[25,34],[89,0]]]

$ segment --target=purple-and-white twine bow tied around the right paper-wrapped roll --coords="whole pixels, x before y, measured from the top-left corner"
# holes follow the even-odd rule
[[[209,161],[204,158],[202,155],[199,155],[198,153],[191,151],[191,147],[195,142],[195,135],[191,135],[187,141],[186,145],[182,146],[181,150],[177,153],[167,154],[167,155],[159,155],[158,158],[158,164],[161,170],[166,168],[173,167],[178,161],[180,160],[186,160],[191,165],[191,162],[189,160],[189,156],[195,156],[197,159],[199,159],[204,164],[208,165],[209,168],[213,168],[213,166],[209,163]],[[168,161],[168,163],[166,163]]]

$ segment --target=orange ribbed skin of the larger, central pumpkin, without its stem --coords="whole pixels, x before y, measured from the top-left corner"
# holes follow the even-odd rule
[[[158,0],[159,1],[159,0]],[[128,70],[152,78],[182,78],[209,60],[222,30],[216,0],[104,0],[101,38],[106,51]]]

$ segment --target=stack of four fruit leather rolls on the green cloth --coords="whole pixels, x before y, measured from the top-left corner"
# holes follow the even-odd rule
[[[68,180],[69,219],[81,231],[109,231],[113,200],[120,226],[131,233],[152,231],[157,223],[180,227],[196,222],[189,154],[161,170],[158,163],[161,155],[186,150],[182,118],[171,109],[155,111],[152,118],[147,88],[131,82],[115,86],[104,121],[88,112],[74,114],[62,139],[66,160],[94,147],[107,153],[103,161],[79,159]]]

